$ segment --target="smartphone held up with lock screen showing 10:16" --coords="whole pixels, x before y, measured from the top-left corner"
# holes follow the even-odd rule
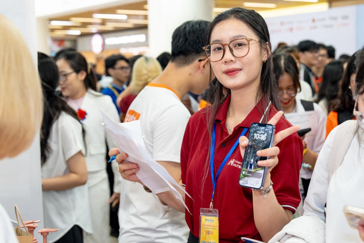
[[[257,156],[257,151],[272,147],[276,127],[265,123],[252,123],[249,129],[249,144],[242,159],[239,185],[253,189],[262,189],[266,167],[257,165],[258,161],[268,157]]]

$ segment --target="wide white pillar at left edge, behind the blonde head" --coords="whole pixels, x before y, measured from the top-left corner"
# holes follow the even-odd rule
[[[28,43],[36,64],[34,0],[1,1],[0,13],[11,19],[18,27]],[[2,82],[4,81],[6,80],[2,80]],[[14,213],[14,204],[16,204],[23,220],[40,219],[43,221],[39,135],[36,136],[28,150],[15,158],[0,161],[0,185],[0,203],[11,219],[16,220]],[[38,224],[37,230],[41,228],[44,228],[43,222]],[[38,242],[42,242],[42,237],[38,233],[35,235]]]

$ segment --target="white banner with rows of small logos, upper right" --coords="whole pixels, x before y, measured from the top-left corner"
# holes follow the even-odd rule
[[[341,54],[353,54],[356,45],[357,6],[336,7],[323,12],[266,18],[271,35],[272,50],[279,42],[297,45],[310,39],[333,46],[336,58]]]

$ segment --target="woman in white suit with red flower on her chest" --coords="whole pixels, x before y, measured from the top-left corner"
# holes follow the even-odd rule
[[[110,187],[106,173],[107,142],[115,147],[114,142],[106,136],[101,123],[101,112],[119,122],[116,107],[110,96],[95,91],[96,81],[92,71],[88,71],[86,59],[75,51],[66,51],[56,59],[60,79],[59,86],[67,104],[73,108],[85,130],[85,159],[88,172],[88,197],[90,203],[92,234],[84,235],[85,243],[109,242],[109,204]],[[120,178],[118,172],[114,178]],[[115,183],[117,185],[117,183]],[[115,188],[114,191],[119,192]]]

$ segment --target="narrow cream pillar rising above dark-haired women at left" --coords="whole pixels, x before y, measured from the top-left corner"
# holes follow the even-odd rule
[[[46,18],[37,18],[37,51],[51,54],[51,37]]]

